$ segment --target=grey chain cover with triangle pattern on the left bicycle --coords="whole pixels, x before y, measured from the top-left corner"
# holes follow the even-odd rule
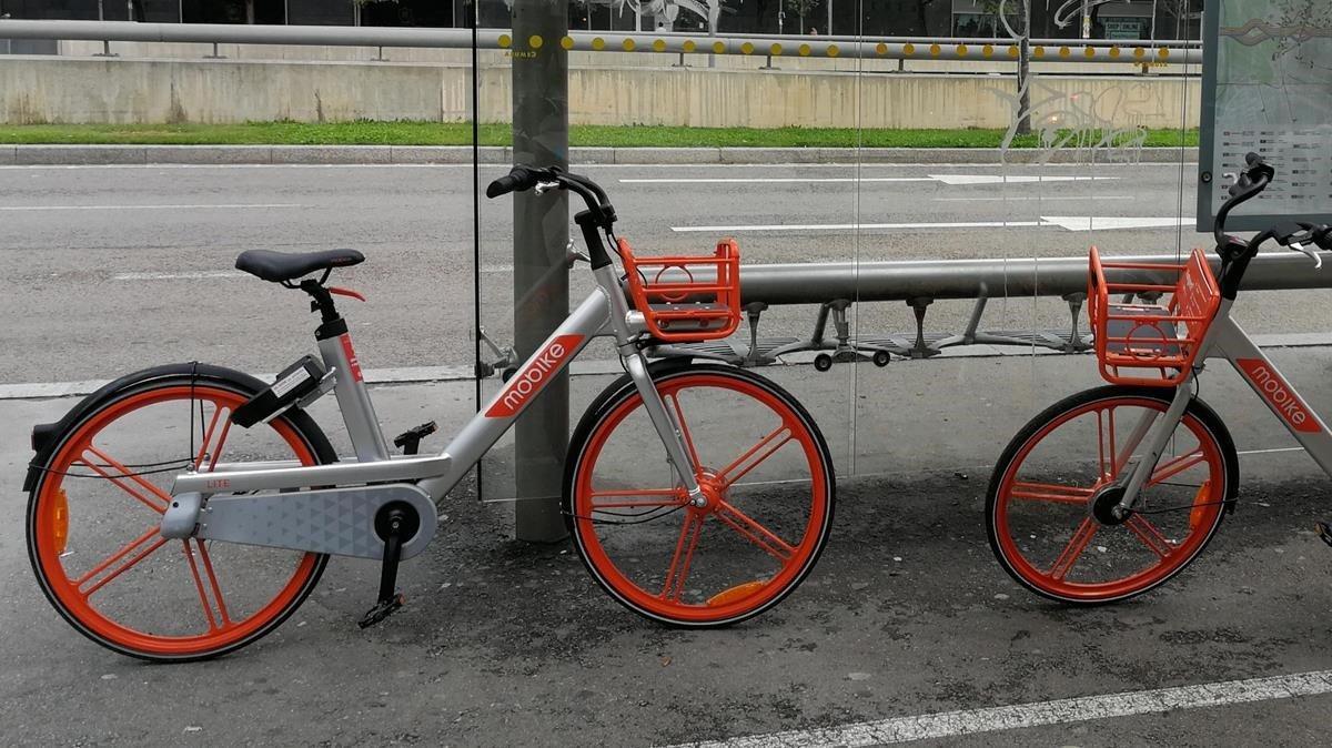
[[[161,534],[381,560],[385,538],[376,530],[376,516],[385,507],[418,520],[412,536],[401,540],[400,558],[424,551],[434,538],[438,516],[429,494],[409,483],[217,494],[206,500],[200,494],[180,494],[163,515]]]

